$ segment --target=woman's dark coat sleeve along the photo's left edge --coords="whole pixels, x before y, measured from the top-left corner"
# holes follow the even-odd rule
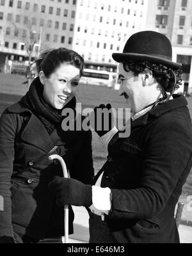
[[[0,237],[13,237],[11,176],[13,172],[16,119],[4,111],[0,118],[0,195],[3,211],[0,211]]]

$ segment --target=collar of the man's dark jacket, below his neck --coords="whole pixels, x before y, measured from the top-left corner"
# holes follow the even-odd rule
[[[168,100],[165,103],[159,103],[155,108],[151,109],[143,116],[140,116],[136,120],[131,122],[131,129],[135,129],[136,127],[144,126],[148,122],[151,122],[154,119],[159,118],[160,116],[168,113],[176,108],[182,108],[187,106],[188,102],[182,95],[173,95],[173,100]]]

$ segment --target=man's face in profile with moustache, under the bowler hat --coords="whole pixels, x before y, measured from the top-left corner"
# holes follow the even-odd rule
[[[119,94],[124,96],[127,108],[131,113],[136,114],[148,104],[155,102],[159,93],[154,79],[150,74],[139,74],[134,76],[134,72],[124,70],[123,63],[119,65],[119,78],[121,81]]]

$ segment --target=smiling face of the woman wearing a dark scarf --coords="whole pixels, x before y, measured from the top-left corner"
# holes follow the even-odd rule
[[[40,71],[39,77],[44,84],[43,95],[46,102],[56,109],[62,109],[77,93],[79,72],[79,68],[70,64],[61,64],[49,78]]]

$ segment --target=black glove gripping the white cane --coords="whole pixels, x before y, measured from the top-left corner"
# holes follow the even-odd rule
[[[54,177],[49,189],[56,193],[58,205],[87,206],[92,204],[92,186],[69,178]]]

